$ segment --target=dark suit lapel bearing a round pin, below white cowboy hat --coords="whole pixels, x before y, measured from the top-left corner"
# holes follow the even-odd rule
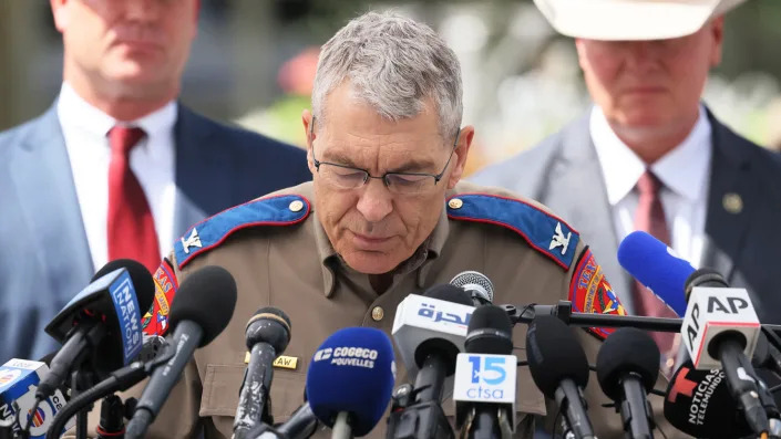
[[[759,192],[752,189],[754,178],[750,175],[749,158],[740,148],[730,147],[737,140],[734,134],[710,111],[708,118],[712,127],[713,155],[701,265],[717,270],[731,281],[736,273],[730,254],[738,254],[742,248],[752,210],[761,200],[756,199]]]

